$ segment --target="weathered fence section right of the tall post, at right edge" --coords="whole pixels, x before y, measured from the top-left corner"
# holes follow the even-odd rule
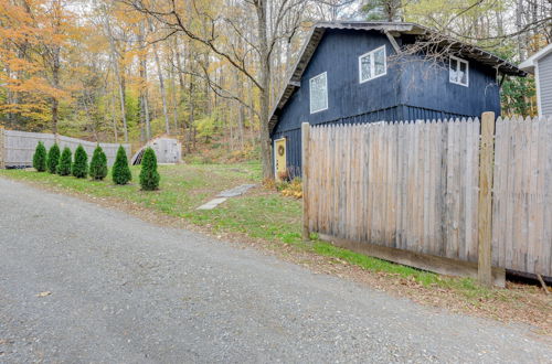
[[[552,118],[498,119],[492,264],[552,276]]]

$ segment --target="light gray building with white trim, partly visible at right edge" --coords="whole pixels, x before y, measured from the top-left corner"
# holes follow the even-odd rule
[[[519,67],[534,74],[539,116],[552,115],[552,44],[527,58]]]

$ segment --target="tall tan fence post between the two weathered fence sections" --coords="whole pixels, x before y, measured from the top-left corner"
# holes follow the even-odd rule
[[[479,151],[479,202],[478,202],[478,266],[477,277],[485,287],[492,286],[492,170],[495,160],[495,113],[481,116],[481,140]]]

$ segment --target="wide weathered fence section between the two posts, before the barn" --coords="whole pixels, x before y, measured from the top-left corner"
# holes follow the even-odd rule
[[[477,261],[478,128],[478,120],[311,128],[310,228]]]

